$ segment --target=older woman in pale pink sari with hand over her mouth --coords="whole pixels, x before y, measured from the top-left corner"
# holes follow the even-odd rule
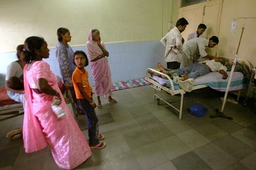
[[[98,99],[97,108],[102,108],[100,96],[108,97],[109,102],[117,103],[111,97],[111,72],[109,63],[105,58],[105,56],[109,56],[109,52],[106,51],[104,43],[101,42],[99,30],[90,30],[86,43],[86,52],[91,62],[92,75],[94,77],[94,88]]]

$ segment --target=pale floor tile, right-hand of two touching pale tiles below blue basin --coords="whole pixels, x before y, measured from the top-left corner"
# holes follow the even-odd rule
[[[202,134],[198,133],[194,129],[189,129],[187,131],[176,134],[177,137],[182,140],[190,149],[196,149],[200,146],[210,143],[211,141],[204,137]]]

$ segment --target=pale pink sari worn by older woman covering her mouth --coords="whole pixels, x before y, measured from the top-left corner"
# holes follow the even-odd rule
[[[92,30],[90,30],[88,34],[88,41],[86,43],[86,52],[91,63],[92,75],[94,78],[94,89],[97,96],[104,95],[104,97],[109,97],[112,95],[112,92],[111,92],[112,80],[111,80],[109,63],[106,57],[100,58],[97,61],[91,61],[97,56],[103,54],[97,42],[92,40],[91,31]],[[103,42],[101,42],[101,45],[105,48],[105,45]]]

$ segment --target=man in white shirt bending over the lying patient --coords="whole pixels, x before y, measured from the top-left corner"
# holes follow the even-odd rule
[[[183,56],[181,60],[180,68],[187,67],[193,64],[194,55],[199,55],[201,58],[213,59],[214,56],[208,55],[206,53],[206,48],[213,48],[219,43],[219,38],[217,36],[212,36],[210,39],[205,38],[194,38],[190,39],[183,45]]]

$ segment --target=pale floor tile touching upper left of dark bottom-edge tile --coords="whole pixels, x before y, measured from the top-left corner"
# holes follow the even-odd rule
[[[156,142],[156,145],[169,160],[191,151],[191,149],[176,136],[160,140]]]

